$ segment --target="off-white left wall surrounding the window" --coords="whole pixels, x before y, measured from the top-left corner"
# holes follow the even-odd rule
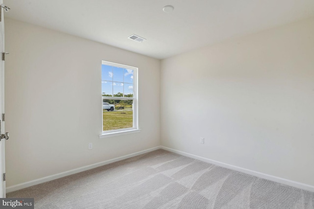
[[[160,145],[159,60],[12,19],[5,49],[6,186]],[[99,139],[102,60],[139,68],[140,133]]]

